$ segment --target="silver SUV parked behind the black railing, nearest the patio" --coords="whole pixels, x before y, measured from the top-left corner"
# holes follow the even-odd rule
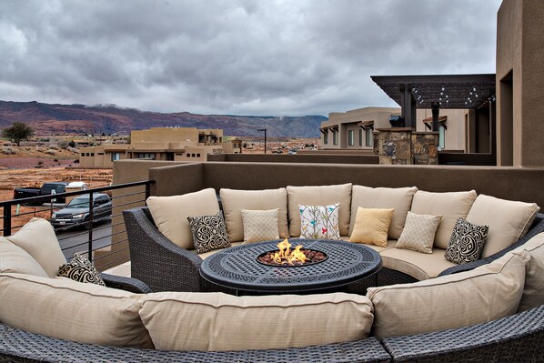
[[[93,221],[104,220],[111,217],[112,203],[106,194],[96,193],[93,195]],[[75,197],[64,207],[53,213],[51,224],[59,227],[90,227],[89,196]]]

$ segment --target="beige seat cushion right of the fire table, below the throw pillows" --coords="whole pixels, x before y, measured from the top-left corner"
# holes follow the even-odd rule
[[[395,269],[418,280],[426,280],[437,277],[446,268],[457,266],[444,257],[445,252],[441,248],[433,248],[430,254],[411,249],[388,248],[379,254],[383,267]]]

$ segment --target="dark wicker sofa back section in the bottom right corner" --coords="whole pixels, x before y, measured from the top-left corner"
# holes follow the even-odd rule
[[[537,361],[542,358],[544,305],[466,328],[398,338],[382,344],[395,362]]]

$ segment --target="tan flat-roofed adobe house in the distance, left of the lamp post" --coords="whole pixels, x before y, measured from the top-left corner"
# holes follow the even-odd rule
[[[241,140],[226,138],[221,129],[153,127],[130,133],[131,144],[89,146],[79,149],[80,166],[113,167],[114,161],[149,159],[207,161],[207,155],[240,153]]]

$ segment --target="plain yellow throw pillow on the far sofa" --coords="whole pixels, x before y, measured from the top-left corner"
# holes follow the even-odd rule
[[[379,247],[388,246],[388,230],[395,209],[358,207],[355,226],[349,240]]]

